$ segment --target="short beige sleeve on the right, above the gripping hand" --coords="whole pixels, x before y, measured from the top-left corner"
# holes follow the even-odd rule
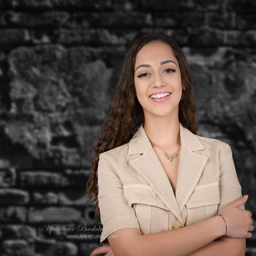
[[[231,202],[242,197],[241,185],[238,181],[236,168],[232,157],[230,146],[226,143],[219,152],[220,163],[220,204],[218,205],[218,212],[221,211]],[[244,210],[244,204],[238,207]]]

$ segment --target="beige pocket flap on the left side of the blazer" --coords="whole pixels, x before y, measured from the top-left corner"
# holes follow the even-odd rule
[[[169,210],[162,200],[156,195],[154,190],[143,184],[130,184],[124,186],[124,196],[132,207],[132,204],[149,204],[165,210]]]

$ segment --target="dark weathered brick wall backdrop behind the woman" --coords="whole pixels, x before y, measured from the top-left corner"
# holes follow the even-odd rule
[[[42,228],[99,226],[85,205],[90,150],[124,57],[148,33],[171,35],[186,54],[198,134],[231,146],[254,216],[255,12],[238,0],[1,1],[0,252],[85,256],[100,246]]]

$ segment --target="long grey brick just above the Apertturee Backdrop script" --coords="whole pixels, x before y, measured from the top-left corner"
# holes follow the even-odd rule
[[[31,207],[28,212],[29,222],[71,222],[78,221],[81,218],[81,212],[69,207]]]

